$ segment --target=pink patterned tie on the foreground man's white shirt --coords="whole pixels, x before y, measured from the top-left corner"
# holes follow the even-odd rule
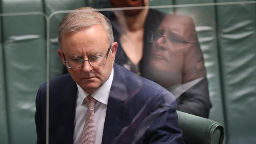
[[[85,103],[88,106],[85,123],[79,144],[95,144],[95,114],[94,106],[97,102],[91,95],[87,96]]]

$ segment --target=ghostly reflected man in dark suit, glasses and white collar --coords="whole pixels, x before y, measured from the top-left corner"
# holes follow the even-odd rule
[[[167,15],[157,31],[149,36],[152,79],[175,96],[177,110],[208,118],[208,81],[193,19]]]

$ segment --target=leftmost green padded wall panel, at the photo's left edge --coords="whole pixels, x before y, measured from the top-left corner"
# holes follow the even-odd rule
[[[43,12],[41,0],[2,0],[3,13]],[[7,119],[11,144],[35,143],[35,97],[46,81],[45,19],[3,17]]]

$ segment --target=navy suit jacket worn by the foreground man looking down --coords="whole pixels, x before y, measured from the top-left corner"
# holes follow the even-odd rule
[[[69,74],[50,81],[49,143],[72,144],[77,86]],[[45,144],[46,84],[37,92],[37,143]],[[183,144],[174,96],[160,85],[114,64],[102,144]]]

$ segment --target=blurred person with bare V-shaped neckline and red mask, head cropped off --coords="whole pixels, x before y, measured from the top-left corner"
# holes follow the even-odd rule
[[[113,7],[148,6],[149,0],[110,0]],[[153,9],[113,11],[106,15],[113,24],[115,41],[119,42],[115,61],[132,72],[144,76],[151,43],[148,31],[155,31],[165,14]]]

